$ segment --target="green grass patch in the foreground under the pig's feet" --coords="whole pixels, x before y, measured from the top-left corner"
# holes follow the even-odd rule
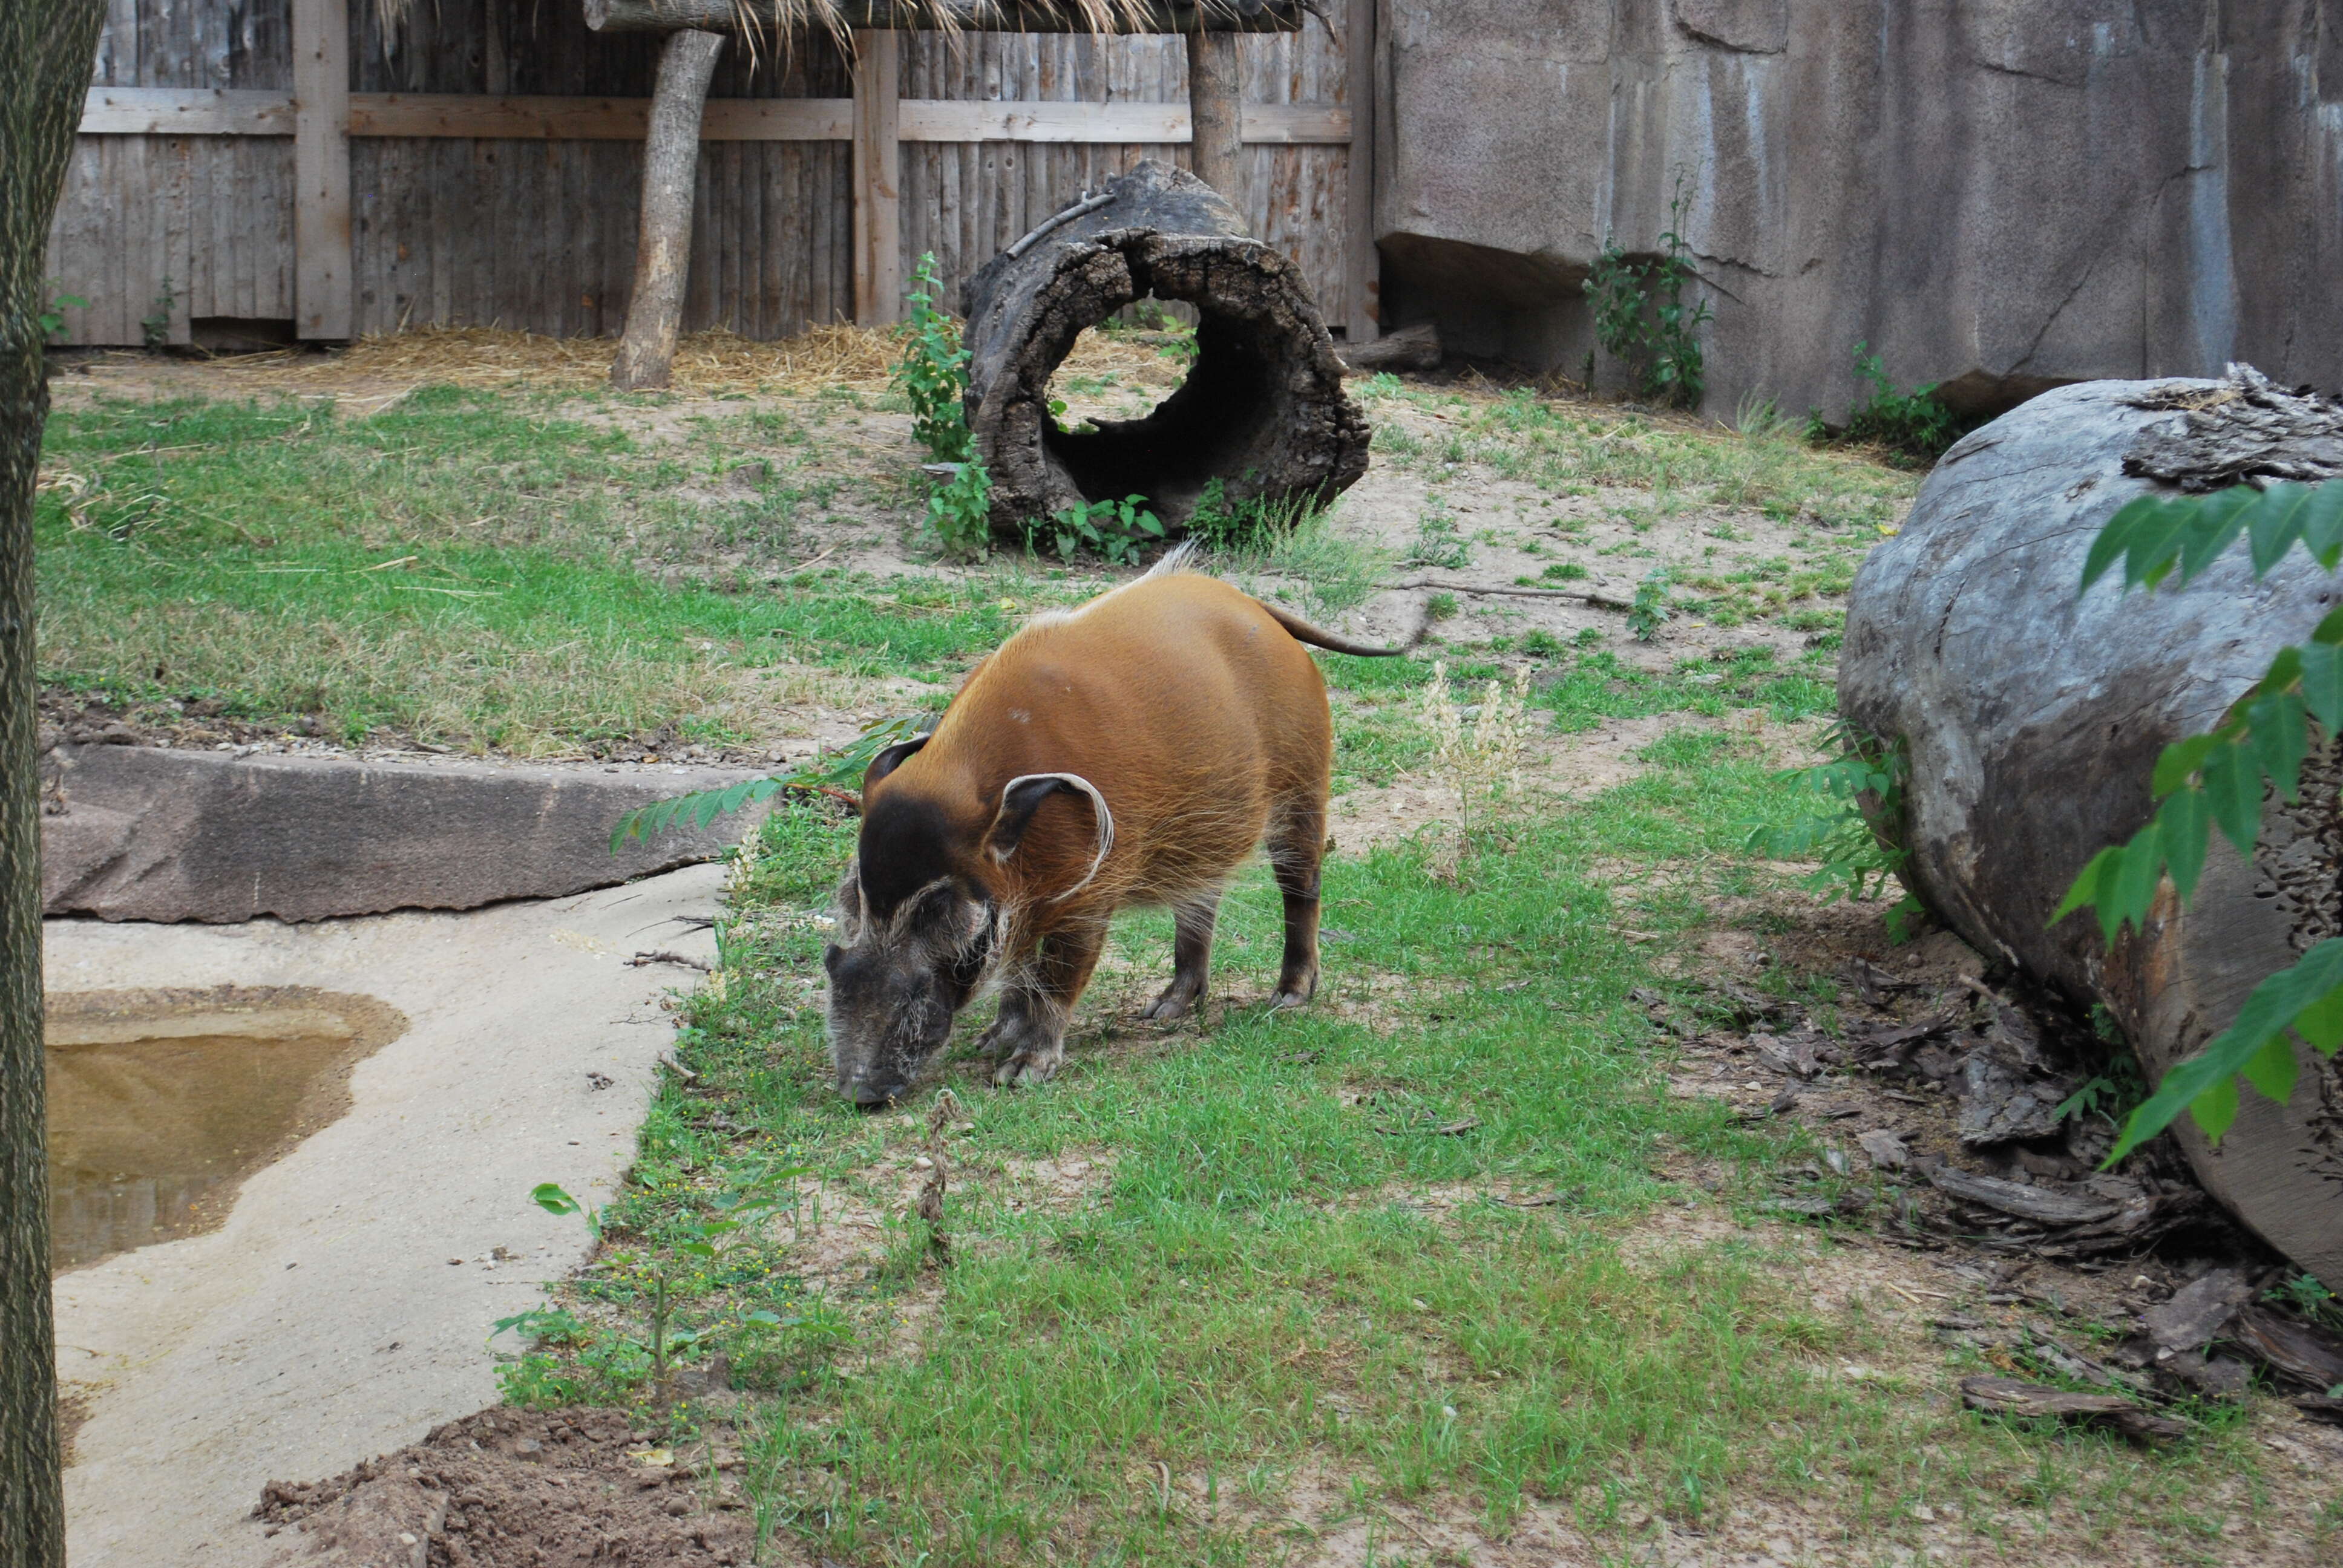
[[[1167,970],[1155,914],[1118,923],[1047,1090],[986,1088],[968,1057],[982,1010],[963,1020],[944,1078],[975,1125],[951,1137],[944,1270],[900,1198],[925,1104],[872,1118],[827,1085],[808,914],[851,823],[769,820],[722,984],[686,1003],[691,1080],[663,1085],[616,1209],[656,1235],[761,1160],[883,1205],[881,1261],[820,1313],[757,1270],[691,1305],[757,1369],[736,1420],[759,1519],[818,1556],[968,1566],[1277,1563],[1338,1523],[1293,1521],[1305,1484],[1345,1498],[1336,1514],[1446,1500],[1495,1535],[1558,1512],[1621,1559],[1659,1519],[1717,1528],[1750,1502],[1823,1507],[1865,1556],[1917,1545],[1917,1505],[1959,1509],[1980,1547],[2142,1516],[2235,1528],[2212,1488],[2252,1477],[2242,1430],[2134,1458],[1961,1416],[1928,1402],[1954,1364],[1842,1376],[1888,1341],[1860,1303],[1799,1287],[1830,1230],[1649,1240],[1687,1200],[1753,1219],[1771,1172],[1813,1158],[1797,1130],[1666,1095],[1664,1036],[1631,991],[1673,987],[1661,956],[1708,921],[1701,867],[1746,886],[1731,823],[1776,799],[1767,764],[1715,734],[1671,734],[1649,762],[1582,806],[1500,820],[1455,879],[1410,846],[1331,860],[1307,1013],[1258,1013],[1277,900],[1256,872],[1223,907],[1228,1001],[1197,1029],[1120,1022]],[[1598,877],[1621,860],[1694,874]],[[1068,1155],[1099,1172],[1087,1193],[1012,1202],[1019,1170]],[[1546,1193],[1560,1202],[1504,1202]],[[787,1268],[785,1242],[769,1266]],[[773,1303],[792,1327],[726,1329]],[[640,1357],[609,1350],[623,1296],[602,1305],[586,1345],[515,1362],[511,1392],[644,1397]]]

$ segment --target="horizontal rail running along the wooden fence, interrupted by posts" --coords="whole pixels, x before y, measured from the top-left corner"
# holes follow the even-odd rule
[[[105,98],[98,103],[98,98]],[[91,89],[82,136],[295,136],[284,94],[199,87]],[[351,136],[642,141],[649,98],[349,94]],[[853,141],[853,98],[710,98],[701,141]],[[902,98],[897,141],[1183,143],[1186,103]],[[1244,141],[1343,145],[1347,103],[1246,103]]]

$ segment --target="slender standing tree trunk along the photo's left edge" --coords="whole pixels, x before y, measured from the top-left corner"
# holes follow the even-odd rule
[[[49,1322],[40,804],[33,788],[33,478],[49,417],[49,218],[98,49],[98,0],[0,0],[0,1563],[63,1568]]]

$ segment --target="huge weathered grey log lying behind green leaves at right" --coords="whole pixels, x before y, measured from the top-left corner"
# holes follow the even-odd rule
[[[2242,546],[2179,591],[2088,595],[2083,558],[2118,506],[2256,478],[2343,471],[2343,408],[2254,370],[2088,382],[1954,445],[1846,605],[1839,708],[1907,748],[1905,881],[1973,947],[2123,1024],[2160,1078],[2226,1029],[2263,977],[2343,935],[2343,748],[2315,750],[2296,804],[2270,802],[2240,858],[2214,834],[2195,902],[2165,884],[2113,949],[2090,912],[2052,909],[2092,853],[2153,813],[2158,752],[2209,729],[2343,600],[2294,553],[2261,581]],[[2219,1148],[2174,1125],[2205,1188],[2343,1289],[2343,1062],[2296,1045],[2280,1106],[2245,1095]]]

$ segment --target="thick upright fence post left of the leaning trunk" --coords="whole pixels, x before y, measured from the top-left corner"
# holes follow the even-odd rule
[[[349,338],[349,0],[293,0],[293,314]]]

